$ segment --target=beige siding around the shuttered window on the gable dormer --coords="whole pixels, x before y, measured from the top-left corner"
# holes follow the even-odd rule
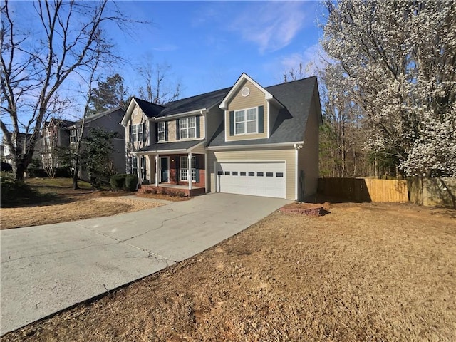
[[[244,87],[249,87],[250,93],[248,96],[242,96],[241,90]],[[268,113],[268,105],[267,101],[264,98],[264,93],[259,90],[254,84],[250,81],[244,81],[241,86],[239,86],[239,90],[237,93],[234,93],[233,97],[227,103],[228,108],[225,110],[225,132],[227,135],[227,141],[232,140],[249,140],[249,139],[259,139],[259,138],[267,138],[268,137],[268,120],[269,120],[269,113]],[[242,135],[229,135],[229,112],[231,110],[241,110],[246,108],[254,108],[259,107],[260,105],[264,106],[264,133],[258,134],[242,134]]]

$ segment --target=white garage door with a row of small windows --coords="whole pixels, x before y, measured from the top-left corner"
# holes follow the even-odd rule
[[[219,162],[217,191],[285,198],[285,162]]]

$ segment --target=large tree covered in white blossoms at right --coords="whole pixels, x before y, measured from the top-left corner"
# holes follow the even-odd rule
[[[323,48],[407,175],[456,176],[456,2],[326,3]]]

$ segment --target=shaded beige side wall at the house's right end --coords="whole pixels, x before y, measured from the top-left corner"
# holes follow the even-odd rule
[[[304,147],[299,150],[299,170],[304,170],[304,197],[316,194],[318,182],[318,119],[314,101],[315,98],[307,119]]]

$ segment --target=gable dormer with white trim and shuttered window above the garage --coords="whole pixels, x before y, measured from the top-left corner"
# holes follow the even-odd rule
[[[283,105],[246,73],[220,103],[225,141],[269,138],[276,113]]]

